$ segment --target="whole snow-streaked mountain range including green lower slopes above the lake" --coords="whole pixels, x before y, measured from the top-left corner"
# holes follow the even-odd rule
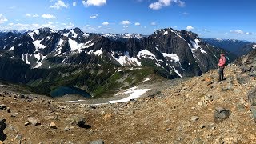
[[[0,78],[4,81],[22,82],[38,89],[44,86],[47,93],[55,86],[71,85],[94,94],[117,86],[107,80],[113,80],[122,67],[150,69],[164,78],[191,77],[217,68],[218,55],[225,51],[204,42],[198,34],[172,28],[156,30],[146,37],[46,27],[26,33],[2,32],[0,50]],[[226,54],[234,60],[233,54]],[[105,75],[97,70],[103,70]],[[96,73],[94,77],[92,73]],[[126,79],[129,84],[118,85],[119,88],[136,83]]]

